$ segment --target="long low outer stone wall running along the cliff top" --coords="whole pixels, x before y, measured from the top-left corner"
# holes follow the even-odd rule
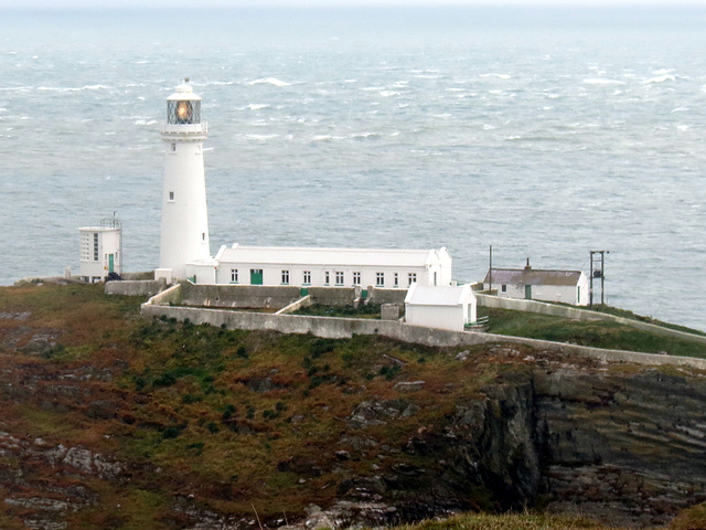
[[[171,289],[170,289],[171,290]],[[430,347],[458,347],[482,343],[521,343],[556,353],[578,354],[611,362],[633,362],[639,364],[687,365],[706,370],[706,359],[660,356],[622,350],[602,350],[576,344],[564,344],[546,340],[505,337],[492,333],[447,331],[408,324],[355,318],[309,317],[299,315],[271,315],[242,312],[225,309],[171,307],[163,303],[167,292],[142,304],[147,316],[167,316],[179,320],[189,319],[194,324],[225,326],[229,329],[272,330],[281,333],[311,333],[322,338],[346,339],[353,335],[381,335],[405,342]],[[161,299],[159,299],[161,297]],[[159,300],[156,300],[159,299]]]

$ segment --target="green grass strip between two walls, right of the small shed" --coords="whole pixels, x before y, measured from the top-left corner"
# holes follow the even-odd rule
[[[618,322],[586,322],[534,312],[485,307],[479,308],[479,316],[490,317],[486,328],[490,333],[569,342],[595,348],[648,353],[667,352],[671,356],[706,359],[706,343],[663,337]]]

